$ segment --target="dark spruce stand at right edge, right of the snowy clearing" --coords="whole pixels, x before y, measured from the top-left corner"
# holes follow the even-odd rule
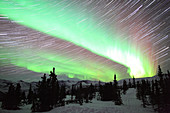
[[[163,74],[158,66],[159,79],[137,81],[136,97],[143,107],[152,106],[159,113],[170,112],[170,73]]]

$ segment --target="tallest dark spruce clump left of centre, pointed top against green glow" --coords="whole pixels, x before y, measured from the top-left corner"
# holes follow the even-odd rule
[[[64,105],[65,86],[59,87],[55,68],[50,71],[50,78],[44,74],[42,81],[37,85],[37,94],[33,100],[32,111],[49,111],[56,105]]]

